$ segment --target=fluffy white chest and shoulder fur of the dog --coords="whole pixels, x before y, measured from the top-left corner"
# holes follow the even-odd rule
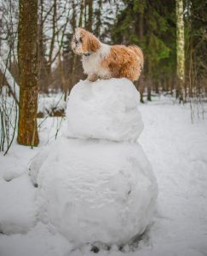
[[[107,68],[101,67],[101,61],[107,57],[110,53],[111,46],[107,44],[101,44],[101,48],[95,53],[85,56],[83,55],[83,70],[84,73],[93,75],[98,74],[100,77],[106,77],[110,75]]]

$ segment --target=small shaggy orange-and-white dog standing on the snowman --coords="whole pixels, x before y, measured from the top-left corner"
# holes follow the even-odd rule
[[[78,27],[72,38],[72,50],[83,55],[83,70],[89,81],[127,78],[133,82],[141,75],[144,57],[135,45],[102,44],[95,35]]]

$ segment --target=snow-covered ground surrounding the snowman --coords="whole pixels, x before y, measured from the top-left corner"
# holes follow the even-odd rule
[[[139,142],[158,179],[157,211],[139,243],[121,251],[115,245],[102,248],[98,255],[206,255],[207,119],[192,124],[189,105],[169,98],[139,107],[145,125]],[[53,226],[37,222],[36,188],[26,170],[43,145],[55,139],[60,122],[43,122],[40,147],[14,144],[8,155],[0,155],[0,256],[94,255],[89,245],[72,249]]]

